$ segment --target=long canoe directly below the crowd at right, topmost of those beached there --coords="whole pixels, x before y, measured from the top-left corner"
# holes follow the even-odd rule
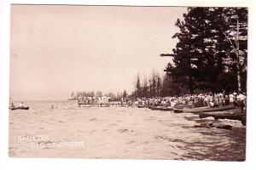
[[[234,109],[235,105],[224,105],[224,106],[219,106],[219,107],[210,107],[210,108],[183,108],[183,109],[174,109],[175,113],[200,113],[200,112],[211,112],[211,111],[226,111],[230,109]]]

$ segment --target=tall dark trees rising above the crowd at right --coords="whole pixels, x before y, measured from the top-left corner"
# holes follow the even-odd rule
[[[230,93],[246,91],[247,8],[188,8],[166,66],[172,87]]]

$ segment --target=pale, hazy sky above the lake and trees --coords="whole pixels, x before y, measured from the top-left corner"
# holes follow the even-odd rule
[[[128,93],[137,73],[164,74],[186,8],[13,5],[10,98],[67,99],[72,91]]]

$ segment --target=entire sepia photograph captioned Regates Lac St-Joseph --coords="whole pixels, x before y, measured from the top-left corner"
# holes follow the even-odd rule
[[[247,31],[245,7],[11,4],[9,156],[246,161]]]

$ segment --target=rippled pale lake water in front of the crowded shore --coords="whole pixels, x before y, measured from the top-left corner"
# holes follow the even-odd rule
[[[19,103],[15,103],[18,105]],[[9,156],[243,161],[246,127],[193,127],[205,119],[147,108],[78,107],[76,101],[25,102],[9,113]],[[57,108],[51,109],[51,105]]]

